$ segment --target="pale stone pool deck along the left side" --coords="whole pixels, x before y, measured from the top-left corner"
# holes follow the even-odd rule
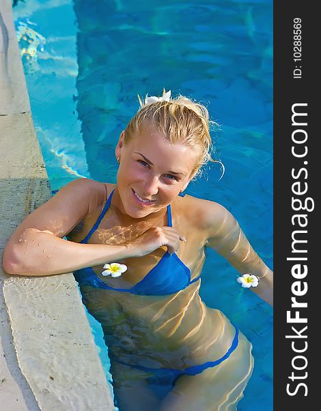
[[[16,226],[51,198],[33,127],[11,0],[0,2],[0,96],[2,256]],[[1,409],[114,409],[71,273],[10,276],[0,264],[0,331]]]

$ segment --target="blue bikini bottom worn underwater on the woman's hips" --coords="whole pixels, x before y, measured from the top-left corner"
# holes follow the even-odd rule
[[[152,369],[146,366],[127,364],[126,362],[122,362],[122,361],[117,361],[117,362],[120,362],[121,364],[126,364],[128,366],[133,366],[135,367],[135,369],[139,369],[141,371],[146,371],[148,373],[151,373],[152,376],[148,377],[148,383],[150,385],[150,388],[153,389],[156,395],[158,395],[159,397],[163,397],[165,393],[169,392],[169,390],[173,388],[176,382],[176,379],[178,379],[180,375],[197,375],[210,367],[221,364],[221,362],[229,358],[229,356],[232,354],[232,352],[236,349],[237,346],[238,346],[238,329],[236,328],[235,336],[232,341],[231,347],[229,347],[229,349],[227,350],[227,353],[225,353],[223,357],[219,358],[219,360],[208,361],[208,362],[204,362],[204,364],[189,366],[188,368],[183,369],[183,370]]]

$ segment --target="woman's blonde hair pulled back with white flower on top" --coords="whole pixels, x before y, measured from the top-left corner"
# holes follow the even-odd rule
[[[164,88],[163,97],[165,93]],[[199,175],[201,167],[208,162],[221,164],[223,173],[220,179],[223,177],[223,163],[219,160],[213,160],[211,155],[214,149],[210,137],[210,126],[217,126],[218,124],[210,121],[208,110],[203,104],[182,95],[178,95],[175,99],[171,99],[171,97],[167,100],[161,98],[159,101],[152,103],[148,103],[147,95],[144,102],[139,96],[138,99],[141,108],[126,126],[125,144],[135,132],[139,132],[143,121],[152,121],[158,131],[172,144],[180,143],[199,149],[200,154],[191,173],[191,178]]]

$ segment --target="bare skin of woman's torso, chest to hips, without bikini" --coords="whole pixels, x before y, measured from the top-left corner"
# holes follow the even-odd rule
[[[104,184],[106,197],[68,235],[80,242],[96,223],[114,184]],[[201,227],[197,210],[202,200],[186,195],[171,204],[173,227],[186,237],[180,242],[178,258],[189,267],[191,279],[198,277],[206,258],[206,229]],[[134,240],[152,226],[167,225],[167,214],[158,214],[148,222],[141,219],[125,221],[117,208],[111,206],[98,229],[89,238],[92,244],[121,244]],[[103,277],[102,266],[92,269],[102,281],[115,288],[130,288],[141,281],[161,260],[167,247],[161,247],[141,258],[120,262],[128,270],[121,277]],[[171,295],[141,296],[82,287],[89,312],[102,324],[111,356],[124,362],[144,366],[184,368],[225,354],[234,337],[234,327],[219,310],[205,306],[199,297],[200,281]]]

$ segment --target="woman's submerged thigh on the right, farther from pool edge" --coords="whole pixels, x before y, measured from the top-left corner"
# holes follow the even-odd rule
[[[221,364],[182,375],[162,401],[162,411],[234,411],[253,371],[251,343],[241,333],[238,347]]]

